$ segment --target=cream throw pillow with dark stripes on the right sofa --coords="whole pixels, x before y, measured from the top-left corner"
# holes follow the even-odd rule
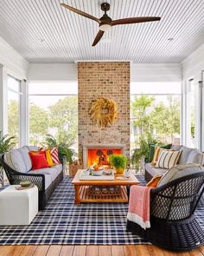
[[[175,165],[178,163],[180,159],[181,154],[182,154],[182,151],[161,150],[158,161],[156,162],[156,167],[165,168],[165,169],[175,167]]]

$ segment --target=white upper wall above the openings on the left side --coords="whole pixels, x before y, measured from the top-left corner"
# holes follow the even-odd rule
[[[7,74],[19,80],[26,79],[29,68],[27,62],[9,43],[0,37],[0,64],[6,69]]]

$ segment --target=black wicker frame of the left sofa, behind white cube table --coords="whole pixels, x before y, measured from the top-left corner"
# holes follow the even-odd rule
[[[63,170],[56,177],[56,179],[50,184],[50,186],[45,189],[45,175],[44,174],[25,174],[17,172],[16,170],[9,167],[3,161],[3,154],[0,155],[0,163],[10,181],[10,185],[20,184],[21,181],[31,181],[38,187],[39,191],[39,210],[43,210],[50,195],[54,192],[55,187],[63,180]]]

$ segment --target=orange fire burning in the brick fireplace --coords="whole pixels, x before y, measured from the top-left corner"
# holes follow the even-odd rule
[[[111,154],[122,154],[122,151],[121,149],[114,148],[88,149],[88,166],[111,167]]]

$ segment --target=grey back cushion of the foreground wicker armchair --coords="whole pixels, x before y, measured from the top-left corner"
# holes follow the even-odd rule
[[[184,176],[201,172],[204,172],[204,167],[194,163],[172,167],[166,174],[163,175],[162,179],[157,184],[157,187],[161,187],[170,181],[175,181],[176,179]]]

